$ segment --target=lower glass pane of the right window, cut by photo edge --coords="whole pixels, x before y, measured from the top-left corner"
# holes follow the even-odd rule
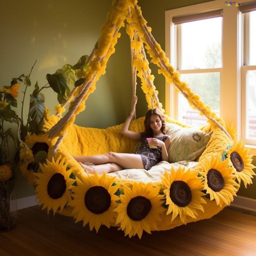
[[[246,74],[246,138],[256,139],[256,70]]]

